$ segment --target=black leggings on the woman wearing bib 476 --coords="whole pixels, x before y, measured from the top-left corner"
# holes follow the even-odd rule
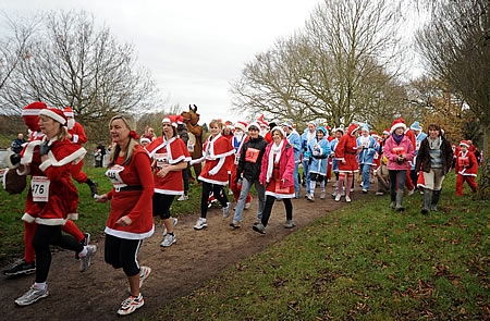
[[[36,251],[36,282],[42,283],[48,279],[49,267],[51,266],[50,245],[58,245],[65,249],[81,252],[84,246],[76,242],[71,235],[61,234],[61,225],[38,224],[33,238],[33,246]]]

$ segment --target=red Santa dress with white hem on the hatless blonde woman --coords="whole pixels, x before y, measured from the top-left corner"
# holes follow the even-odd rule
[[[143,239],[154,234],[152,196],[154,177],[148,152],[137,145],[131,162],[123,165],[119,157],[115,164],[108,169],[106,175],[114,186],[140,187],[139,190],[120,190],[112,188],[108,193],[111,199],[111,212],[106,225],[106,234],[120,238]],[[121,226],[115,222],[127,215],[132,224]]]

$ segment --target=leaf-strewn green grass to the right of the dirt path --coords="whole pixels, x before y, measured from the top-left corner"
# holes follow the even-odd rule
[[[162,307],[156,320],[488,319],[489,201],[407,211],[368,196],[298,230]]]

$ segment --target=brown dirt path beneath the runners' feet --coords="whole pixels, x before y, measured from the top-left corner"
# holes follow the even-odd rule
[[[331,186],[327,192],[324,200],[316,199],[314,203],[304,198],[293,200],[296,227],[292,230],[283,227],[284,206],[277,202],[266,235],[252,230],[257,215],[256,199],[253,201],[253,208],[244,212],[242,229],[237,230],[229,226],[231,217],[223,219],[220,209],[208,212],[208,227],[201,231],[193,229],[197,214],[179,218],[175,227],[177,243],[166,250],[160,247],[162,225],[158,224],[154,236],[144,242],[138,256],[142,266],[152,269],[142,288],[145,306],[125,319],[151,316],[159,307],[191,293],[222,270],[345,205],[343,198],[341,202],[331,199]],[[356,192],[353,200],[358,197],[360,194]],[[34,281],[33,275],[13,280],[1,277],[0,299],[4,308],[0,319],[117,319],[115,311],[127,296],[127,282],[122,270],[114,270],[103,261],[103,238],[96,244],[98,251],[94,264],[86,273],[78,272],[78,262],[74,260],[71,251],[53,255],[48,277],[50,295],[32,306],[17,307],[14,299],[28,289]]]

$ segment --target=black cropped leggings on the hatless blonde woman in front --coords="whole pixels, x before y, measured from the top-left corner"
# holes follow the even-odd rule
[[[106,234],[105,260],[114,269],[123,269],[127,276],[139,274],[137,261],[143,239],[120,238]]]

